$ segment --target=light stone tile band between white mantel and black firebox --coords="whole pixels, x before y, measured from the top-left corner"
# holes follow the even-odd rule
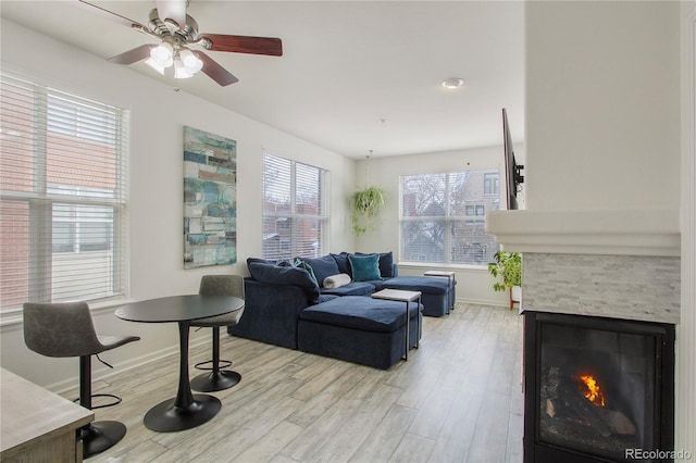
[[[525,252],[523,310],[679,323],[680,259]]]

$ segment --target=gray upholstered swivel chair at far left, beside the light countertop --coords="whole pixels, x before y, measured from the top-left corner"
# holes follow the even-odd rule
[[[89,410],[92,410],[92,397],[116,399],[115,402],[98,408],[121,402],[113,395],[92,396],[91,355],[139,339],[137,336],[97,336],[86,302],[24,304],[24,342],[41,355],[79,356],[79,404]],[[103,452],[123,439],[125,434],[126,426],[120,422],[99,421],[86,425],[79,436],[83,440],[83,455],[88,458]]]

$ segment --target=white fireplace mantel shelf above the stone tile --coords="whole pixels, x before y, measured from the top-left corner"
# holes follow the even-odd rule
[[[486,232],[507,251],[680,255],[679,210],[490,211]]]

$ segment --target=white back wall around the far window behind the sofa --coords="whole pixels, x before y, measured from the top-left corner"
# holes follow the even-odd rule
[[[510,121],[514,124],[514,121]],[[502,138],[502,126],[500,127]],[[514,143],[515,158],[524,163],[524,145]],[[399,260],[399,177],[410,174],[458,172],[478,168],[498,168],[505,172],[504,149],[499,147],[475,148],[459,151],[409,154],[399,157],[372,158],[358,162],[353,188],[378,186],[386,193],[382,222],[374,230],[369,230],[357,239],[357,250],[362,252],[393,251]],[[501,203],[505,197],[501,196]],[[421,265],[399,264],[400,275],[422,275],[426,270]],[[436,266],[435,268],[444,268]],[[485,267],[452,266],[457,274],[457,299],[472,303],[496,305],[508,304],[507,292],[493,290],[494,279]]]

